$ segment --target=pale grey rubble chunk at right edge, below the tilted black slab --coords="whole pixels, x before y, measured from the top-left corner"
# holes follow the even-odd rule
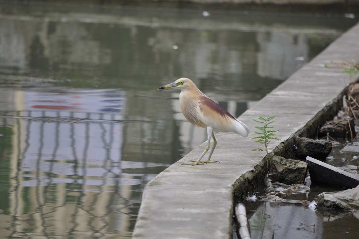
[[[337,193],[325,193],[316,198],[315,201],[320,207],[357,210],[359,209],[359,185]]]

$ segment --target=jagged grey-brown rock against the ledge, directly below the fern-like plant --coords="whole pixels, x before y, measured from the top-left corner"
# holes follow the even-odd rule
[[[303,184],[307,175],[307,163],[294,159],[273,156],[269,178],[272,182]]]

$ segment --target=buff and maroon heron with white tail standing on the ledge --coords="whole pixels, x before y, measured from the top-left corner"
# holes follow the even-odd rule
[[[180,78],[173,83],[161,86],[158,90],[176,88],[181,90],[180,106],[183,115],[193,125],[207,129],[207,146],[197,161],[194,163],[181,163],[181,165],[198,165],[205,163],[216,163],[210,161],[213,151],[217,145],[214,132],[233,132],[247,137],[250,129],[236,117],[232,116],[222,106],[215,103],[200,91],[197,86],[188,78]],[[210,149],[211,138],[213,146],[206,161],[201,161]]]

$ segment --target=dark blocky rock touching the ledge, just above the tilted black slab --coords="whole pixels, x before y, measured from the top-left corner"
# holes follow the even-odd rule
[[[296,147],[295,155],[299,159],[306,159],[309,156],[324,161],[332,151],[332,144],[325,140],[295,137],[294,143]]]

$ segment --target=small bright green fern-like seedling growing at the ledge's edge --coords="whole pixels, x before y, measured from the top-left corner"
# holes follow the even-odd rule
[[[271,123],[274,122],[275,116],[271,116],[269,118],[264,118],[262,116],[260,116],[258,118],[258,120],[253,119],[253,121],[257,122],[257,123],[261,123],[263,124],[263,126],[256,126],[256,128],[258,130],[260,130],[260,132],[254,132],[255,134],[258,134],[260,136],[257,137],[250,137],[250,139],[258,139],[256,140],[256,143],[260,143],[260,144],[264,144],[265,145],[265,150],[266,150],[266,157],[269,158],[269,153],[268,153],[268,145],[270,143],[270,141],[272,139],[274,140],[281,140],[278,138],[275,138],[275,132],[277,132],[278,130],[270,130],[271,128],[274,128],[274,126],[269,126]],[[253,149],[252,151],[262,151],[263,149],[258,148],[258,149]]]

